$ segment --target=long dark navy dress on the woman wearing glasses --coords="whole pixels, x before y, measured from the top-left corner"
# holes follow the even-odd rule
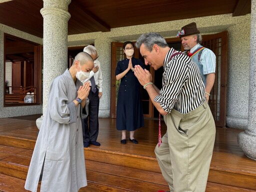
[[[140,65],[144,68],[140,59],[131,58],[133,67]],[[123,72],[128,67],[129,59],[125,58],[118,61],[115,75]],[[140,98],[140,84],[129,70],[122,78],[119,85],[117,108],[116,108],[116,129],[117,130],[136,130],[144,126],[144,118]]]

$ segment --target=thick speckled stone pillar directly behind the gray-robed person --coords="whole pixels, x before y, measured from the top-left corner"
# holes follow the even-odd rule
[[[43,0],[43,114],[52,80],[67,68],[68,4],[71,0]],[[36,120],[40,128],[43,115]]]

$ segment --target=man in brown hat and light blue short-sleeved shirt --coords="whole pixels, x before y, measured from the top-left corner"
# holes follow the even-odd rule
[[[200,70],[205,86],[206,100],[208,101],[215,79],[216,56],[212,50],[200,45],[202,36],[197,30],[195,22],[183,26],[177,36],[181,38],[184,53],[193,59]]]

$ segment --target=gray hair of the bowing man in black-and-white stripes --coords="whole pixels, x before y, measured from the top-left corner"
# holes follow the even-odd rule
[[[141,34],[140,37],[138,37],[135,45],[137,48],[139,48],[142,43],[144,43],[145,48],[149,51],[152,51],[154,44],[157,44],[160,47],[168,46],[165,39],[156,32],[148,32]]]

